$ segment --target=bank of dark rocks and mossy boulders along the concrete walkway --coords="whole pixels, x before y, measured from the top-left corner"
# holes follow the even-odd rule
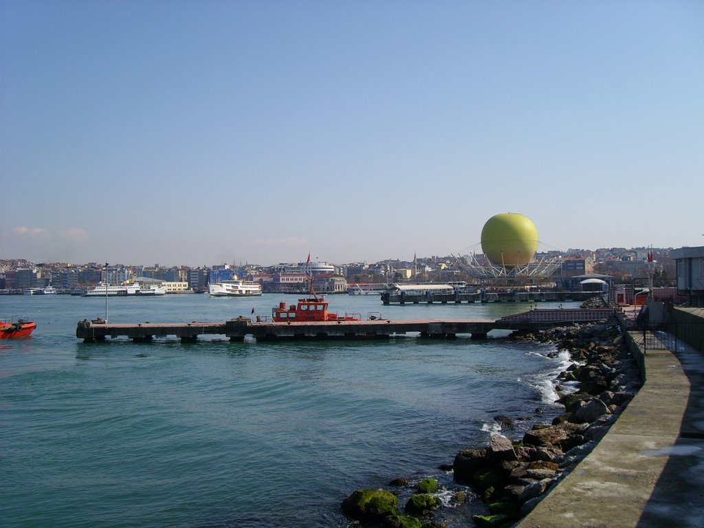
[[[455,482],[469,486],[484,502],[484,511],[472,517],[479,527],[508,527],[527,515],[589,454],[641,385],[639,371],[615,324],[516,332],[510,339],[554,343],[555,354],[568,351],[574,363],[556,380],[564,413],[551,423],[536,423],[521,438],[513,439],[508,437],[513,425],[527,418],[496,416],[508,436],[492,434],[488,446],[460,451],[452,464],[439,468],[452,470]],[[420,484],[396,479],[389,487],[359,489],[343,501],[342,510],[363,525],[439,528],[446,526],[434,520],[440,517],[436,514],[441,508],[456,507],[465,500],[463,491],[439,489],[434,479]],[[408,489],[413,496],[400,508],[399,491]],[[440,494],[444,501],[439,500]]]

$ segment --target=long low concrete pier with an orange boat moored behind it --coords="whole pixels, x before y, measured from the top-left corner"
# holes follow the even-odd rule
[[[596,321],[613,315],[611,308],[530,310],[506,318],[491,319],[420,319],[368,320],[326,322],[253,322],[248,318],[225,322],[187,323],[142,322],[106,323],[82,320],[78,322],[76,337],[84,341],[104,341],[127,337],[134,341],[175,336],[181,341],[197,341],[201,335],[224,335],[231,341],[241,341],[250,335],[258,340],[271,339],[374,339],[392,335],[417,333],[421,337],[453,338],[457,334],[471,334],[472,339],[484,339],[494,329],[543,329],[570,322]]]

